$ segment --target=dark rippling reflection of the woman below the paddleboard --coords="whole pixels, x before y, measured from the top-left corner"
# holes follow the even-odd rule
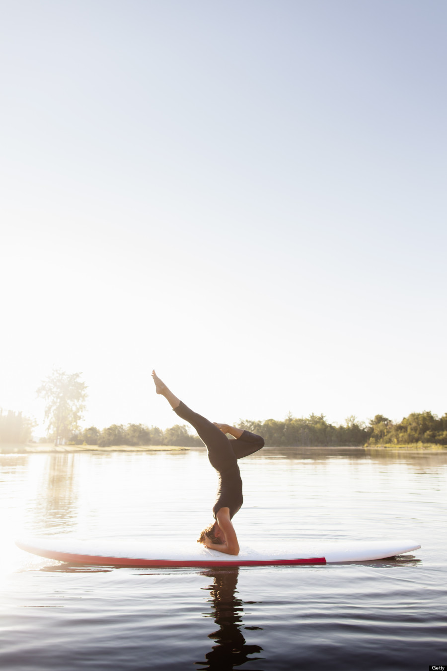
[[[238,574],[239,568],[237,567],[220,570],[216,568],[203,574],[213,578],[213,583],[205,589],[210,590],[211,617],[214,617],[214,622],[219,628],[208,635],[208,638],[216,641],[217,645],[205,655],[206,662],[196,662],[200,664],[202,671],[227,671],[245,662],[261,659],[249,657],[255,652],[261,652],[262,648],[261,646],[248,646],[241,631],[244,611],[243,601],[236,596]],[[245,628],[261,629],[262,627]]]

